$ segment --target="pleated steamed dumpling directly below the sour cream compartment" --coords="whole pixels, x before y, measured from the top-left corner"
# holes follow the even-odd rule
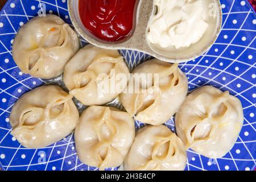
[[[145,81],[142,78],[139,80],[141,91],[137,92],[137,88],[133,86],[133,92],[130,92],[131,85],[138,80],[133,78],[127,86],[129,89],[125,89],[127,92],[122,93],[120,99],[127,112],[131,116],[136,115],[136,120],[150,125],[161,125],[176,113],[185,100],[188,80],[178,68],[178,64],[165,63],[156,59],[139,65],[133,71],[133,76],[137,74],[146,76],[148,73],[153,74],[153,77],[158,73],[159,78],[152,81],[151,79]],[[147,86],[146,89],[143,88],[142,83]]]

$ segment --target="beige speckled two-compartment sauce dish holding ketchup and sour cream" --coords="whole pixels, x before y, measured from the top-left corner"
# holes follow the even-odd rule
[[[207,40],[200,40],[196,43],[196,46],[192,44],[191,47],[184,48],[179,51],[163,52],[148,43],[147,32],[151,18],[156,14],[157,7],[154,5],[154,1],[138,0],[135,6],[134,13],[134,27],[133,32],[126,39],[119,42],[106,42],[96,38],[88,30],[86,30],[84,24],[82,24],[79,14],[79,1],[68,0],[69,16],[72,20],[73,26],[76,31],[84,38],[88,43],[94,46],[105,49],[131,49],[134,51],[140,51],[147,53],[155,57],[156,59],[166,61],[169,63],[182,63],[185,61],[196,59],[204,52],[208,51],[210,47],[216,41],[221,31],[222,24],[222,9],[219,0],[212,0],[216,5],[216,28]]]

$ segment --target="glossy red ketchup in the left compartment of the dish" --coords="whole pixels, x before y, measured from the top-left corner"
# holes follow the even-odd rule
[[[79,14],[85,28],[108,42],[123,40],[133,30],[137,0],[79,0]]]

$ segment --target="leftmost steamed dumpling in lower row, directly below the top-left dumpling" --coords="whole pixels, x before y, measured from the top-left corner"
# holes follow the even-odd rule
[[[11,134],[27,148],[46,147],[66,137],[79,121],[72,97],[53,85],[24,94],[11,110]]]

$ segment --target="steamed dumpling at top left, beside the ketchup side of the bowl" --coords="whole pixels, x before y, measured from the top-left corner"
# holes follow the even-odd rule
[[[79,47],[75,31],[59,16],[37,16],[20,28],[13,58],[23,73],[49,79],[63,73]]]

